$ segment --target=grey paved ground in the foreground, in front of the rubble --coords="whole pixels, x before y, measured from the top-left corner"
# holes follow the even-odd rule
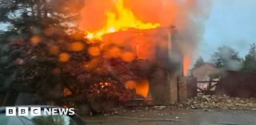
[[[115,115],[85,116],[89,125],[256,125],[256,111],[164,109],[118,111]]]

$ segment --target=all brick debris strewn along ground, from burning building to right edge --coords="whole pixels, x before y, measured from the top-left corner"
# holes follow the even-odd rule
[[[238,98],[230,96],[210,96],[202,95],[187,99],[186,101],[167,104],[167,105],[138,105],[133,107],[117,107],[110,112],[105,112],[107,115],[122,115],[132,114],[141,117],[148,117],[151,114],[158,116],[174,116],[178,119],[177,111],[194,111],[194,109],[202,109],[208,112],[216,109],[231,109],[231,110],[250,110],[256,111],[255,98]]]

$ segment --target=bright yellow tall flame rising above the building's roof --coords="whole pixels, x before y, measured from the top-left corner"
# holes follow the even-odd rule
[[[134,29],[154,29],[160,24],[158,23],[145,23],[134,16],[134,13],[124,6],[123,0],[118,0],[115,4],[118,15],[113,12],[106,12],[107,20],[106,25],[102,29],[95,32],[87,32],[86,38],[88,39],[102,39],[106,33],[114,33],[129,28]]]

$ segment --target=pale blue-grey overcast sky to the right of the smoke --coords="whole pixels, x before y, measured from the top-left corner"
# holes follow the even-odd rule
[[[206,20],[204,41],[198,55],[206,61],[218,46],[229,45],[244,56],[256,43],[256,0],[212,0],[210,18]],[[0,25],[0,29],[3,29]]]

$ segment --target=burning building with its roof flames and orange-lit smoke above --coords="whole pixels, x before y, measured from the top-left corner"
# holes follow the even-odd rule
[[[114,69],[109,71],[137,95],[152,97],[155,104],[175,102],[178,88],[186,90],[180,76],[186,76],[201,33],[201,25],[190,18],[200,17],[197,6],[194,0],[139,0],[136,5],[125,0],[88,1],[81,27],[86,29],[90,56],[126,63],[111,63]]]

